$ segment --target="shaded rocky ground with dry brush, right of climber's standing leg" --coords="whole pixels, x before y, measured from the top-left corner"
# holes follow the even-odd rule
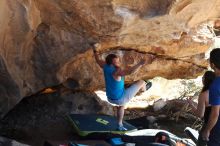
[[[152,107],[147,109],[128,109],[125,118],[136,124],[139,129],[163,129],[185,138],[187,137],[184,133],[186,127],[199,129],[199,119],[191,113],[186,113],[186,111],[180,113],[175,110],[165,108],[155,112]],[[131,118],[134,118],[134,120],[131,120]]]

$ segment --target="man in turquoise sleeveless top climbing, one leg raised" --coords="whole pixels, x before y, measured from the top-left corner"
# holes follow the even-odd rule
[[[106,95],[110,103],[117,105],[117,119],[118,119],[118,130],[126,131],[127,129],[123,126],[124,107],[125,104],[133,98],[138,91],[146,91],[152,86],[151,82],[146,83],[143,80],[139,80],[133,83],[129,88],[124,87],[124,76],[130,75],[136,72],[140,67],[146,64],[146,60],[142,59],[136,65],[122,69],[120,58],[115,54],[109,54],[105,61],[100,60],[95,47],[92,47],[95,55],[96,62],[103,69],[105,77]],[[148,60],[151,63],[153,58]]]

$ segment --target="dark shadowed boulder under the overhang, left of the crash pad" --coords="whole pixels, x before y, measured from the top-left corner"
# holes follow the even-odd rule
[[[42,146],[45,141],[62,144],[77,138],[68,114],[96,113],[113,115],[113,107],[99,101],[95,93],[73,92],[61,86],[23,98],[0,121],[0,135],[31,146]]]

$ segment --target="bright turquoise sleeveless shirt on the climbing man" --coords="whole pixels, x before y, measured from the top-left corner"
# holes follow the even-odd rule
[[[118,100],[124,93],[124,77],[117,81],[113,77],[116,68],[112,65],[105,65],[103,68],[105,76],[106,95],[111,100]]]

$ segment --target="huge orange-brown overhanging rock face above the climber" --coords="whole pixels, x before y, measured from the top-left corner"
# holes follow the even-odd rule
[[[0,116],[67,81],[81,91],[103,88],[94,42],[102,58],[116,52],[124,66],[154,57],[126,82],[196,77],[219,12],[216,0],[1,0]]]

